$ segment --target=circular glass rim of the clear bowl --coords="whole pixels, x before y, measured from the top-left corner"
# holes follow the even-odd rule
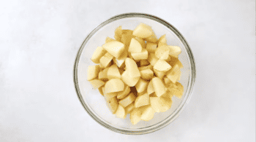
[[[120,20],[120,19],[123,19],[126,17],[143,17],[143,18],[147,18],[150,20],[154,20],[158,23],[161,23],[162,25],[165,25],[165,27],[167,27],[171,31],[173,31],[173,33],[175,33],[176,36],[178,36],[178,39],[181,40],[182,44],[184,44],[184,47],[187,50],[187,55],[189,56],[189,61],[190,61],[189,66],[191,68],[191,77],[189,77],[189,84],[188,84],[188,88],[187,88],[187,92],[186,92],[187,98],[184,98],[184,100],[181,102],[181,105],[178,106],[176,111],[173,112],[173,116],[171,114],[169,117],[162,120],[162,122],[159,122],[155,125],[152,125],[152,126],[149,126],[146,128],[144,127],[143,129],[146,129],[146,130],[138,130],[138,131],[137,130],[123,130],[120,128],[112,127],[111,125],[108,125],[105,122],[102,122],[102,120],[98,119],[94,115],[94,113],[89,110],[89,106],[87,106],[86,103],[84,102],[83,97],[80,93],[79,85],[78,85],[78,63],[79,63],[80,55],[82,54],[83,48],[85,47],[86,43],[89,41],[89,39],[91,39],[91,36],[93,36],[94,33],[96,33],[103,26],[105,26],[108,23],[111,23],[115,20]],[[189,44],[187,43],[186,39],[184,39],[184,36],[182,36],[181,33],[173,25],[171,25],[170,23],[167,23],[167,21],[162,20],[161,18],[154,16],[154,15],[149,15],[146,13],[138,13],[138,12],[129,12],[129,13],[123,13],[120,15],[115,15],[113,17],[110,17],[108,20],[105,20],[103,23],[97,25],[97,27],[94,28],[94,30],[91,31],[86,36],[86,39],[84,39],[83,43],[81,44],[81,46],[78,50],[78,53],[76,55],[76,58],[75,58],[75,64],[74,64],[74,70],[73,70],[73,81],[74,81],[74,85],[75,85],[75,91],[77,92],[78,98],[79,98],[80,103],[82,104],[83,108],[86,109],[86,112],[92,117],[92,119],[94,119],[96,122],[98,122],[99,125],[102,125],[103,127],[108,128],[108,130],[112,130],[116,133],[122,133],[122,134],[127,134],[127,135],[142,135],[142,134],[146,134],[146,133],[153,133],[157,130],[162,129],[163,127],[166,127],[167,125],[170,124],[170,122],[173,122],[179,116],[179,114],[181,114],[181,112],[184,110],[185,106],[187,106],[187,103],[189,103],[189,100],[191,99],[191,96],[192,96],[193,87],[195,85],[195,78],[196,78],[195,59],[192,54],[192,50],[189,47]]]

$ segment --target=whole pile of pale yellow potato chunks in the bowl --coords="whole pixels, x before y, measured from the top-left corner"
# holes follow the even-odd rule
[[[178,82],[181,48],[167,45],[165,35],[157,39],[144,23],[134,31],[119,26],[114,37],[97,47],[91,60],[99,65],[89,66],[87,76],[110,111],[121,119],[130,114],[135,125],[170,109],[173,95],[181,98],[184,92]]]

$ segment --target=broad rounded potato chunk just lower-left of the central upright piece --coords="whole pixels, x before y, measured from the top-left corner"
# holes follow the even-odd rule
[[[123,90],[124,82],[122,82],[121,79],[110,79],[105,84],[105,92],[119,92]]]

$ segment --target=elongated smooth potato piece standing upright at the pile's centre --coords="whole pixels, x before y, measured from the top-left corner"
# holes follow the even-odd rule
[[[129,77],[135,78],[140,76],[140,71],[134,60],[132,60],[131,58],[126,58],[125,66],[127,67],[126,71],[127,71],[127,74],[129,74]]]

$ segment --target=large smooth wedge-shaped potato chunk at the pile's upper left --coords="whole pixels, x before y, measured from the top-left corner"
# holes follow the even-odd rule
[[[124,44],[117,41],[105,43],[102,45],[102,47],[115,58],[119,58],[121,54],[124,52]]]

